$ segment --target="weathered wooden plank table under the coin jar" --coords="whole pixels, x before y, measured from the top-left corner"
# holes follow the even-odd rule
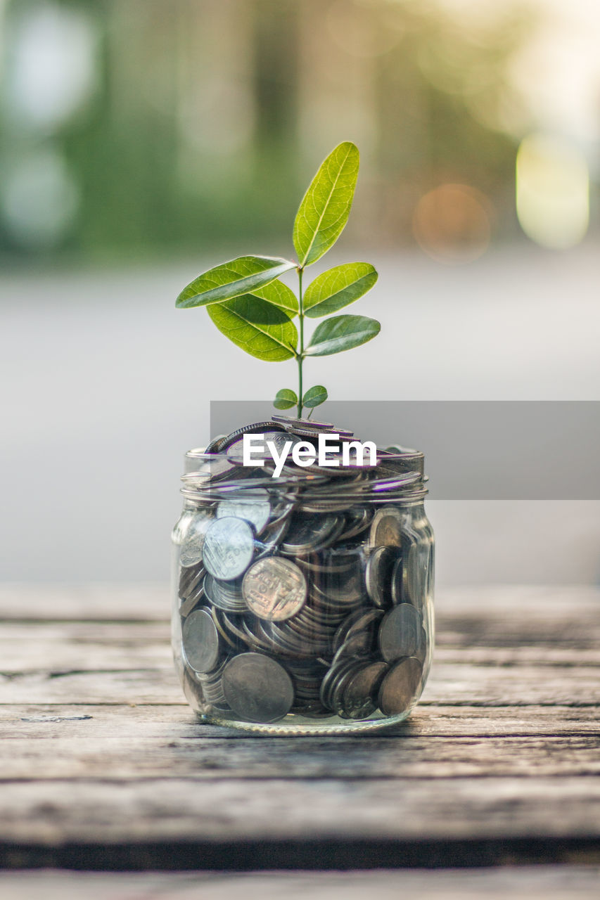
[[[197,724],[157,586],[5,586],[0,618],[0,861],[58,869],[3,897],[600,893],[598,590],[442,593],[423,700],[377,736]]]

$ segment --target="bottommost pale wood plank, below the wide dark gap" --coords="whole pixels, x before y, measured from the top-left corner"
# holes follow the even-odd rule
[[[597,866],[352,872],[3,872],[4,900],[597,900]]]

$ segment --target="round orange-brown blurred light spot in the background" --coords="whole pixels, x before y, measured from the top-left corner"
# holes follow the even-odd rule
[[[441,184],[417,203],[414,237],[439,262],[472,262],[489,244],[491,208],[486,196],[468,184]]]

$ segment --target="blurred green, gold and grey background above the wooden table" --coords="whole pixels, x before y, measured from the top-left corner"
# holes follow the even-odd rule
[[[594,0],[0,0],[2,577],[168,577],[209,402],[295,378],[175,297],[289,256],[341,140],[359,187],[314,274],[373,262],[356,311],[382,332],[306,377],[338,400],[600,400],[599,39]],[[441,585],[600,579],[598,501],[429,512]]]

